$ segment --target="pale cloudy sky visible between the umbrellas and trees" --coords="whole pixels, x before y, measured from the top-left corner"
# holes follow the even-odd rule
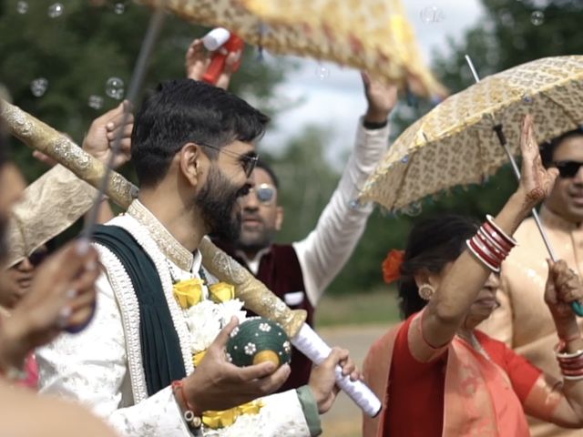
[[[448,52],[448,36],[463,38],[465,29],[475,25],[483,14],[479,0],[403,0],[403,4],[428,63],[435,53]],[[442,18],[428,24],[422,14],[431,7]],[[300,67],[289,73],[276,89],[276,96],[292,102],[292,108],[276,117],[275,128],[263,138],[260,149],[277,154],[302,127],[308,124],[329,127],[332,137],[326,148],[327,158],[336,168],[343,167],[342,157],[353,147],[357,120],[366,108],[360,73],[312,59],[292,59]],[[277,59],[268,57],[266,62]]]

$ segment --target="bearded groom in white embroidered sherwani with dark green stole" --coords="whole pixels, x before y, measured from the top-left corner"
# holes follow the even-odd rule
[[[334,367],[352,373],[348,352],[334,349],[310,383],[269,395],[290,374],[271,362],[238,368],[225,359],[233,319],[193,364],[191,343],[206,330],[188,319],[173,284],[204,281],[201,239],[235,239],[238,199],[251,187],[254,142],[268,117],[239,97],[190,79],[159,87],[138,113],[132,161],[139,198],[126,215],[96,232],[103,272],[94,320],[37,354],[41,391],[75,398],[108,418],[121,435],[318,435],[319,413],[332,406]],[[261,398],[258,411],[230,426],[200,425],[204,412]]]

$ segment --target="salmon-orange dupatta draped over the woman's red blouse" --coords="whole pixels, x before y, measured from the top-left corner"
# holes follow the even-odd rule
[[[420,314],[414,316],[417,320],[410,329],[415,329],[415,321],[420,322]],[[394,341],[402,326],[400,323],[377,340],[364,360],[364,380],[384,401],[375,418],[363,416],[363,437],[384,437]],[[495,404],[495,399],[506,402]],[[506,372],[455,337],[448,346],[442,435],[497,437],[501,432],[516,437],[530,435],[522,405]]]

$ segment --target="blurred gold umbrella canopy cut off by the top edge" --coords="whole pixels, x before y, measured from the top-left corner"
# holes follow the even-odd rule
[[[444,97],[424,66],[401,0],[139,0],[199,25],[226,27],[282,55],[367,70],[425,97]]]

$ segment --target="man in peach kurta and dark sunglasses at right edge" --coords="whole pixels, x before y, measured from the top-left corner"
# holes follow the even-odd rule
[[[540,148],[545,166],[559,171],[555,187],[540,210],[540,218],[557,259],[565,259],[568,266],[581,275],[583,131],[569,131]],[[547,248],[532,218],[520,225],[515,238],[518,245],[506,259],[501,272],[501,290],[498,292],[501,306],[481,328],[492,337],[505,341],[542,371],[558,377],[560,372],[553,351],[557,334],[542,299],[548,271]],[[533,437],[575,437],[580,434],[533,419],[530,419],[530,425]]]

